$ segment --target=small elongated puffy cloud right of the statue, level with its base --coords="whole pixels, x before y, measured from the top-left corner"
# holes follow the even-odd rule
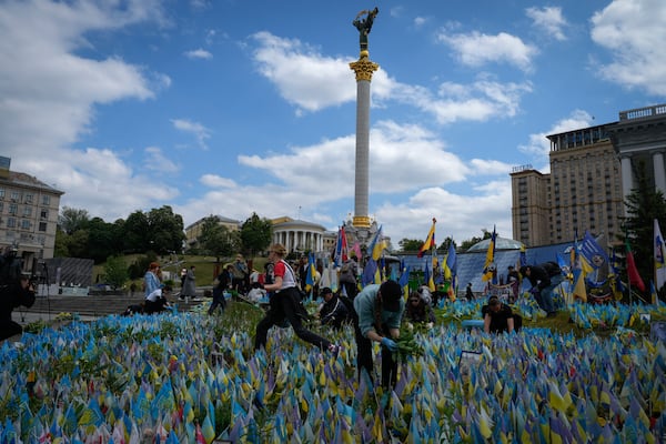
[[[532,59],[538,53],[535,47],[506,32],[490,36],[478,31],[466,34],[448,34],[443,31],[437,40],[448,44],[461,63],[470,67],[482,67],[491,62],[508,63],[523,71],[531,71]]]

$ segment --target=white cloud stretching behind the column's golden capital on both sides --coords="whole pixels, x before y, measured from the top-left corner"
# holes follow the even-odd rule
[[[290,103],[317,111],[356,100],[353,73],[347,67],[353,59],[325,58],[297,40],[266,32],[254,38],[260,43],[254,52],[260,72]],[[531,91],[529,83],[503,84],[484,74],[471,84],[443,83],[436,95],[426,88],[400,83],[382,69],[372,80],[374,105],[397,101],[432,114],[442,124],[515,115],[522,94]]]

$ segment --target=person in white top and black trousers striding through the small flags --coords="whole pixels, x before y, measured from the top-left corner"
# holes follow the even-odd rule
[[[337,345],[303,326],[301,316],[299,315],[301,294],[296,287],[296,274],[291,265],[283,260],[285,254],[285,248],[279,243],[271,245],[269,250],[269,260],[274,264],[274,282],[264,284],[264,290],[275,293],[271,296],[270,307],[265,316],[256,324],[254,350],[265,347],[269,330],[273,325],[282,325],[286,320],[292,329],[294,329],[296,336],[322,350],[327,350],[336,354],[340,350]]]

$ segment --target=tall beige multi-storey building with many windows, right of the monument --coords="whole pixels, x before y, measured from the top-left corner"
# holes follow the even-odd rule
[[[512,178],[515,240],[528,246],[573,241],[585,230],[605,242],[622,232],[620,163],[609,138],[616,123],[548,135],[551,172],[518,167]]]

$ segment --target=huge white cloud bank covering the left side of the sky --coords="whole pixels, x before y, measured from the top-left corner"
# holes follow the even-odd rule
[[[0,147],[12,170],[67,191],[62,205],[109,218],[178,195],[159,179],[135,173],[122,152],[72,147],[94,123],[94,107],[147,100],[169,77],[120,57],[82,56],[89,33],[170,23],[160,1],[7,1],[0,9]],[[150,151],[150,150],[149,150]],[[48,160],[48,161],[47,161]]]

